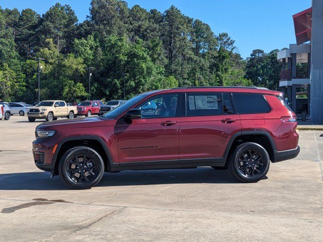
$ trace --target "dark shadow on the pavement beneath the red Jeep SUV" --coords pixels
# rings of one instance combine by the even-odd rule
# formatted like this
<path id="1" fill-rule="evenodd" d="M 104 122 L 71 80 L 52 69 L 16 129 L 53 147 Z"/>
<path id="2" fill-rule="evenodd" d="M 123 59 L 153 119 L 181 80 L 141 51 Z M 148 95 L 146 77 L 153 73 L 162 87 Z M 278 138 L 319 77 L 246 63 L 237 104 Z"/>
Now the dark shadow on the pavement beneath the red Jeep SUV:
<path id="1" fill-rule="evenodd" d="M 236 181 L 228 170 L 211 167 L 197 169 L 129 170 L 105 172 L 97 187 L 140 186 L 158 184 L 233 184 Z M 70 190 L 59 176 L 49 172 L 0 174 L 0 190 Z"/>

